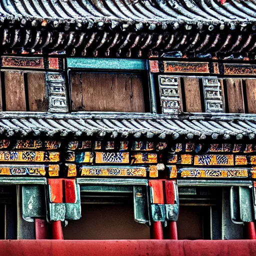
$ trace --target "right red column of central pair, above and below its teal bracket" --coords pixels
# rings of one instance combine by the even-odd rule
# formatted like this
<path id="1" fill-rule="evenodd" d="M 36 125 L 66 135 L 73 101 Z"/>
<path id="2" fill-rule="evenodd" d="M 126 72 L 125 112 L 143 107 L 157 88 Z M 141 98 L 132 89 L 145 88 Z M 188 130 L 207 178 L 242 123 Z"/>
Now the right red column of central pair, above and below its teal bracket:
<path id="1" fill-rule="evenodd" d="M 174 180 L 165 180 L 165 203 L 166 204 L 175 204 L 176 203 L 176 183 Z M 168 220 L 168 238 L 177 240 L 177 224 L 176 221 Z"/>

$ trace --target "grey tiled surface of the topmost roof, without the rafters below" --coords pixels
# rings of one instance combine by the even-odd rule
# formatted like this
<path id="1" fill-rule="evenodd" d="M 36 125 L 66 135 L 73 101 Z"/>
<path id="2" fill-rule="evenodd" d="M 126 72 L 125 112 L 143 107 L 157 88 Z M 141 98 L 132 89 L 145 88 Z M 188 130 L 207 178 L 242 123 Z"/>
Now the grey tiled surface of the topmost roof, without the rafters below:
<path id="1" fill-rule="evenodd" d="M 221 1 L 222 2 L 222 1 Z M 153 29 L 152 24 L 166 28 L 166 23 L 196 23 L 216 25 L 224 22 L 256 21 L 256 5 L 249 0 L 231 0 L 221 4 L 218 0 L 2 0 L 2 17 L 17 20 L 47 20 L 53 22 L 118 21 L 122 24 L 139 22 Z M 24 22 L 24 21 L 23 21 Z M 56 24 L 56 22 L 55 22 Z M 42 25 L 46 25 L 44 22 Z M 87 24 L 88 25 L 88 24 Z M 87 26 L 86 25 L 86 26 Z"/>

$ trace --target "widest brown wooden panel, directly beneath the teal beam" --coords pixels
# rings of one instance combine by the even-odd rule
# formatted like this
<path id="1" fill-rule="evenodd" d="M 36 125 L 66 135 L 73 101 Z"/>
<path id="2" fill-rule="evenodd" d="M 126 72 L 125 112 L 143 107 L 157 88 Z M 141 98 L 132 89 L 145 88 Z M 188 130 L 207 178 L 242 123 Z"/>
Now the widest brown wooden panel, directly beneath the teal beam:
<path id="1" fill-rule="evenodd" d="M 70 73 L 72 110 L 144 112 L 141 74 Z"/>

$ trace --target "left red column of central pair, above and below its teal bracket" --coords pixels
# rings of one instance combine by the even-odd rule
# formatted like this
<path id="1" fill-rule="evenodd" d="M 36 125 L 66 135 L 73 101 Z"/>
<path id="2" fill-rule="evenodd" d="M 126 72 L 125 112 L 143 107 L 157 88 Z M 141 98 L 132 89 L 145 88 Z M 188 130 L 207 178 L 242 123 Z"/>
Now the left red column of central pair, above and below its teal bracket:
<path id="1" fill-rule="evenodd" d="M 149 180 L 151 203 L 164 204 L 162 180 Z M 161 221 L 152 221 L 152 239 L 163 239 Z"/>

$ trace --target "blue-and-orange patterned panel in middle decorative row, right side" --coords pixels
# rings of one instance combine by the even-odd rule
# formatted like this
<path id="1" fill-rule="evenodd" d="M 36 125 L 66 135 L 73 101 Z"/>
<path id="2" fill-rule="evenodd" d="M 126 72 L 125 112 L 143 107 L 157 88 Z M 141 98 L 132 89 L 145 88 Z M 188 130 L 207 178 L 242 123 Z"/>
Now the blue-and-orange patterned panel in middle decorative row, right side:
<path id="1" fill-rule="evenodd" d="M 194 156 L 194 165 L 233 165 L 232 154 L 202 154 Z"/>

